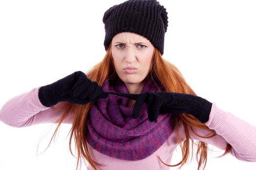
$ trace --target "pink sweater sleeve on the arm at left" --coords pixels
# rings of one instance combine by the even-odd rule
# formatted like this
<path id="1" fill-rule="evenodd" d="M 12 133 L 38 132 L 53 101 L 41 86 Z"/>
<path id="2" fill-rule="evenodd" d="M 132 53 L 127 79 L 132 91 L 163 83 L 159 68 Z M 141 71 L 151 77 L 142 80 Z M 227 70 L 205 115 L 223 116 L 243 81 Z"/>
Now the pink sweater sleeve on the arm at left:
<path id="1" fill-rule="evenodd" d="M 38 97 L 40 87 L 33 88 L 27 93 L 20 94 L 7 101 L 0 109 L 0 121 L 13 127 L 26 127 L 39 123 L 54 123 L 62 114 L 64 109 L 55 109 L 62 102 L 52 107 L 45 107 Z M 68 114 L 63 123 L 72 123 L 73 113 Z"/>

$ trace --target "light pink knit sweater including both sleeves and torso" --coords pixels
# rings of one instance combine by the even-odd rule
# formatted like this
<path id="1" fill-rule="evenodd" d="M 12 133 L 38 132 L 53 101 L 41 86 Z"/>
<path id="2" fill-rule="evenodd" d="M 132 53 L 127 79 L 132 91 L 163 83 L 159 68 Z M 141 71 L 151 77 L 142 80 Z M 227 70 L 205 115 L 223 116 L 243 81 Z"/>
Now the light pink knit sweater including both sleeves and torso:
<path id="1" fill-rule="evenodd" d="M 53 123 L 61 116 L 61 110 L 43 106 L 38 98 L 39 87 L 27 93 L 20 94 L 0 109 L 0 120 L 13 127 L 25 127 L 39 123 Z M 55 106 L 61 104 L 59 102 Z M 73 114 L 70 114 L 64 123 L 72 124 Z M 256 127 L 239 119 L 229 112 L 217 108 L 213 103 L 209 121 L 205 123 L 210 129 L 214 129 L 217 136 L 201 138 L 190 131 L 193 139 L 212 144 L 220 149 L 225 149 L 227 142 L 232 146 L 230 154 L 239 160 L 256 161 Z M 185 139 L 183 125 L 179 123 L 181 140 Z M 208 131 L 194 128 L 201 135 L 208 135 Z M 89 144 L 89 152 L 92 158 L 106 166 L 98 167 L 98 170 L 169 170 L 158 160 L 158 155 L 167 164 L 170 164 L 176 147 L 177 136 L 174 132 L 168 140 L 152 155 L 138 161 L 127 161 L 113 158 L 94 150 Z M 93 170 L 89 167 L 89 170 Z"/>

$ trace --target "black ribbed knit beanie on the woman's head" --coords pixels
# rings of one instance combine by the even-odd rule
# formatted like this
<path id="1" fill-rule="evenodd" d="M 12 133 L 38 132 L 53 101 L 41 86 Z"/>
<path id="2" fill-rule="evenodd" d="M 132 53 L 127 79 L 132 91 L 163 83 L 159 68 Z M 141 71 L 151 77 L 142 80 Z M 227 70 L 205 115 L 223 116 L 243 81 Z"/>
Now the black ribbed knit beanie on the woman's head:
<path id="1" fill-rule="evenodd" d="M 106 51 L 116 34 L 131 32 L 146 37 L 163 55 L 168 17 L 166 9 L 157 0 L 127 0 L 109 8 L 102 21 Z"/>

